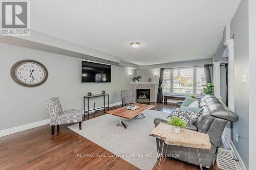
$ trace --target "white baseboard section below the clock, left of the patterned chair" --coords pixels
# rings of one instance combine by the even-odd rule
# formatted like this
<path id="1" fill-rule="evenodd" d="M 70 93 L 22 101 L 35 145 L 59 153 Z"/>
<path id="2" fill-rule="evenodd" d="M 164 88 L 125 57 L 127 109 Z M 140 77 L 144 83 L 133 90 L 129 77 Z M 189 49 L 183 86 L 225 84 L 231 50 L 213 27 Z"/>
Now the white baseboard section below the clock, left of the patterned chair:
<path id="1" fill-rule="evenodd" d="M 10 134 L 13 134 L 13 133 L 17 133 L 17 132 L 21 132 L 21 131 L 25 131 L 25 130 L 28 130 L 28 129 L 36 128 L 36 127 L 39 127 L 39 126 L 47 125 L 47 124 L 50 124 L 50 118 L 45 119 L 45 120 L 40 120 L 38 122 L 26 124 L 26 125 L 21 125 L 21 126 L 9 128 L 9 129 L 1 130 L 0 131 L 0 137 L 10 135 Z"/>

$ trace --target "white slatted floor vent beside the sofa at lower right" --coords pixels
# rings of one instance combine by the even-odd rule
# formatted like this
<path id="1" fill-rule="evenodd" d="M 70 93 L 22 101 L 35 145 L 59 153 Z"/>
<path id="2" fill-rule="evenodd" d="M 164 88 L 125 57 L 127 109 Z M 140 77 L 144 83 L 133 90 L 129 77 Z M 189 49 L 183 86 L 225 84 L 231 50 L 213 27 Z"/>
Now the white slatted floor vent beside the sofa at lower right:
<path id="1" fill-rule="evenodd" d="M 217 154 L 217 165 L 223 170 L 240 170 L 237 162 L 233 160 L 233 154 L 231 150 L 219 148 Z"/>

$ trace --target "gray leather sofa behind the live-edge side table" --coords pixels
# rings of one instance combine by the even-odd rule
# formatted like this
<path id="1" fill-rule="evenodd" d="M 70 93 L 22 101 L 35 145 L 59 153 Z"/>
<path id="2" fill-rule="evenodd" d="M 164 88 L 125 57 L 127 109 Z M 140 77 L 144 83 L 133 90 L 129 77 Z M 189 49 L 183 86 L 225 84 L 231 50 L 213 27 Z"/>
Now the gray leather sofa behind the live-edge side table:
<path id="1" fill-rule="evenodd" d="M 177 103 L 177 107 L 182 105 L 182 101 Z M 238 115 L 232 112 L 226 105 L 220 102 L 214 95 L 205 95 L 199 100 L 199 107 L 203 108 L 202 114 L 198 117 L 194 125 L 187 126 L 187 129 L 206 133 L 211 142 L 210 150 L 200 150 L 202 165 L 210 168 L 214 165 L 218 148 L 221 143 L 221 136 L 228 121 L 237 122 Z M 169 115 L 168 117 L 170 117 Z M 167 118 L 168 118 L 167 117 Z M 154 124 L 157 126 L 160 122 L 167 123 L 167 118 L 155 118 Z M 157 151 L 159 139 L 157 140 Z M 164 151 L 166 145 L 164 146 Z M 162 148 L 162 142 L 160 143 Z M 197 149 L 182 146 L 169 145 L 167 155 L 175 155 L 175 159 L 199 165 Z M 177 156 L 179 155 L 179 156 Z"/>

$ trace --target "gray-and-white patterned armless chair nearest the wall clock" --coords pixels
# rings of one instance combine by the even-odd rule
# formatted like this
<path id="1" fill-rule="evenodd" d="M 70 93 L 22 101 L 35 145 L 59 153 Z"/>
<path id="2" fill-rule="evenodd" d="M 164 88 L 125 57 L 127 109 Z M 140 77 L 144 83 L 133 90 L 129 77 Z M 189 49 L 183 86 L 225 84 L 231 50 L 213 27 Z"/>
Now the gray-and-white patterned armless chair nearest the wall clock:
<path id="1" fill-rule="evenodd" d="M 52 127 L 52 135 L 54 135 L 54 128 L 57 125 L 79 123 L 79 129 L 82 129 L 82 111 L 81 109 L 71 109 L 62 111 L 59 98 L 51 98 L 46 101 L 47 109 L 50 115 L 50 125 Z"/>

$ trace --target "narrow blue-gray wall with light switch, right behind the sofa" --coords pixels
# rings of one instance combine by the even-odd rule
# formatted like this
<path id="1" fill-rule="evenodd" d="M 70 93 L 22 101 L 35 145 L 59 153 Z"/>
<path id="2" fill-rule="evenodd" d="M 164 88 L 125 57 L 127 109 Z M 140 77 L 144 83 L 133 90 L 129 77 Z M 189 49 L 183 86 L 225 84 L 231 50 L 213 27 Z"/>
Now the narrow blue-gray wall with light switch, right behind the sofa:
<path id="1" fill-rule="evenodd" d="M 234 35 L 234 106 L 239 121 L 232 124 L 231 140 L 248 168 L 249 85 L 241 82 L 242 74 L 248 74 L 248 0 L 241 1 L 230 23 Z M 255 30 L 254 30 L 255 31 Z M 254 56 L 255 57 L 255 56 Z M 236 141 L 236 133 L 239 142 Z"/>

